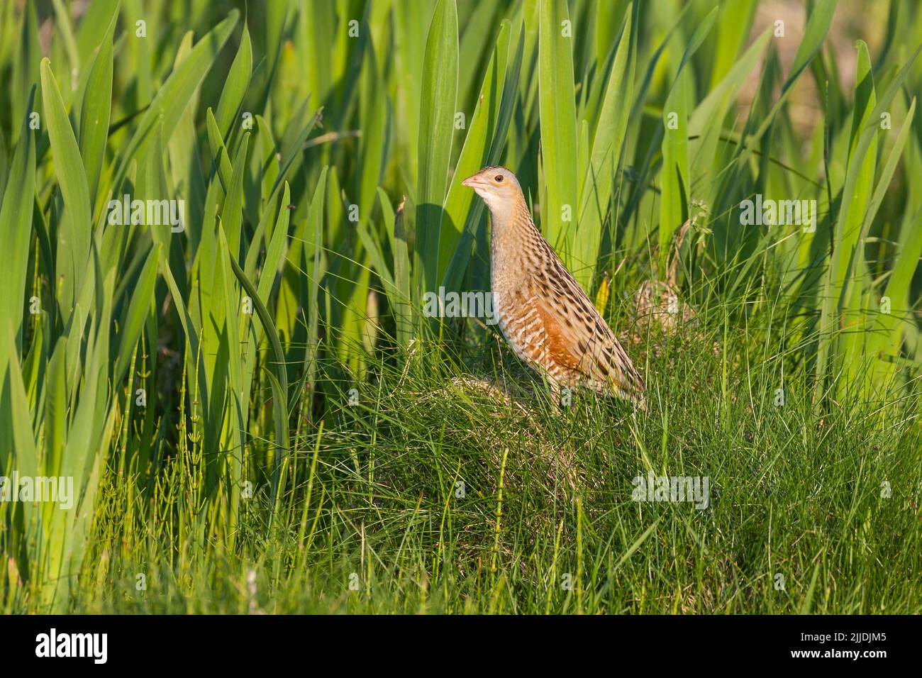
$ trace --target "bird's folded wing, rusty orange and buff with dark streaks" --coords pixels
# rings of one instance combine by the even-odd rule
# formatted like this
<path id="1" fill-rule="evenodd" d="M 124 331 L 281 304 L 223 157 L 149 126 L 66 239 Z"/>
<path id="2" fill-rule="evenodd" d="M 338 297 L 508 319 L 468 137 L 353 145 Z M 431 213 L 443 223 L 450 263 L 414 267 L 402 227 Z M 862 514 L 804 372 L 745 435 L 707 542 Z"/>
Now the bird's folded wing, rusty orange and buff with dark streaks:
<path id="1" fill-rule="evenodd" d="M 641 398 L 644 380 L 583 288 L 560 261 L 554 261 L 531 282 L 529 305 L 543 319 L 548 357 L 582 375 L 589 387 L 613 390 L 634 400 Z"/>

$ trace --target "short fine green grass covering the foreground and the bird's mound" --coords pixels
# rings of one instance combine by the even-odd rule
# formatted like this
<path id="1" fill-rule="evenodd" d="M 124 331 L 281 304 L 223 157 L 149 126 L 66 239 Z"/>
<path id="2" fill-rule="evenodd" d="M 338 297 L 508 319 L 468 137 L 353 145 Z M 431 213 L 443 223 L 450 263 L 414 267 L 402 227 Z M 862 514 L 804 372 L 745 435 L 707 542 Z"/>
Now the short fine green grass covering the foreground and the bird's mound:
<path id="1" fill-rule="evenodd" d="M 917 613 L 910 404 L 818 415 L 795 370 L 777 407 L 781 361 L 746 336 L 726 338 L 726 358 L 719 328 L 656 338 L 647 369 L 674 378 L 636 418 L 596 398 L 555 416 L 526 392 L 502 395 L 495 375 L 529 384 L 502 349 L 463 368 L 383 368 L 358 406 L 303 436 L 277 507 L 255 474 L 234 549 L 186 505 L 195 458 L 164 463 L 149 507 L 113 477 L 76 609 Z M 651 467 L 708 476 L 710 506 L 632 502 L 632 478 Z"/>

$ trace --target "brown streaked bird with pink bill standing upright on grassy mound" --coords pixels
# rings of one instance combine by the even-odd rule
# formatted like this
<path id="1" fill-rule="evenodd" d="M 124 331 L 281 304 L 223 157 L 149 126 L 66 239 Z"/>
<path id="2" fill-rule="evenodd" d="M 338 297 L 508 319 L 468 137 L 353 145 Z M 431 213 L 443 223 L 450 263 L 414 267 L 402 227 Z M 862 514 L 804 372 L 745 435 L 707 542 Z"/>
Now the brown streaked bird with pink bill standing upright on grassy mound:
<path id="1" fill-rule="evenodd" d="M 515 355 L 547 380 L 555 409 L 563 387 L 587 387 L 645 409 L 644 379 L 538 231 L 514 173 L 491 165 L 461 184 L 490 210 L 496 324 Z"/>

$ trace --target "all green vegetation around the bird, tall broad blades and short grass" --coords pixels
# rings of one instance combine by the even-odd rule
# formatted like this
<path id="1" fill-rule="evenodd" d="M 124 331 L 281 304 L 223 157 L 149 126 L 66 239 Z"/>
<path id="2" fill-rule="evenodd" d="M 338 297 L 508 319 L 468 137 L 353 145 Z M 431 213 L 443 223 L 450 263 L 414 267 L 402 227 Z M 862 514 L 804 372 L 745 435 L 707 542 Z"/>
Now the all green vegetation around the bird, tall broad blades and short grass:
<path id="1" fill-rule="evenodd" d="M 922 612 L 920 10 L 757 5 L 7 0 L 0 476 L 78 496 L 0 502 L 0 610 Z M 646 410 L 420 313 L 493 163 Z"/>

